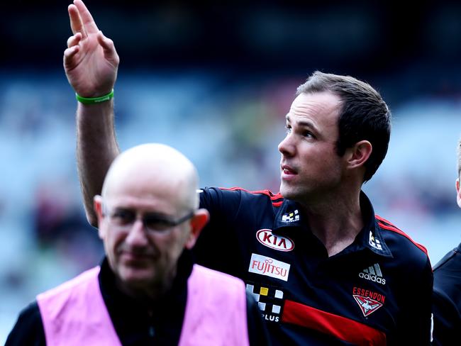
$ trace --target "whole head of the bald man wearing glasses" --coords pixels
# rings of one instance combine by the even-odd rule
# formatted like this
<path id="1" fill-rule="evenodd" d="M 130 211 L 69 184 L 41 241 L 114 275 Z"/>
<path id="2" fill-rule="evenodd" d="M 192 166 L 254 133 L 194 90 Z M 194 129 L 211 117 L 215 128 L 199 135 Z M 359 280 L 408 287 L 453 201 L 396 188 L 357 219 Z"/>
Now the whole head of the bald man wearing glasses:
<path id="1" fill-rule="evenodd" d="M 138 145 L 112 162 L 94 210 L 109 266 L 128 294 L 157 299 L 170 289 L 179 257 L 209 220 L 197 184 L 194 165 L 167 145 Z"/>

